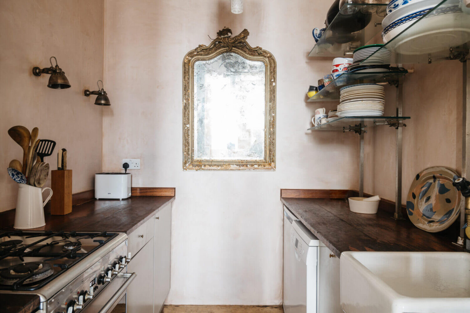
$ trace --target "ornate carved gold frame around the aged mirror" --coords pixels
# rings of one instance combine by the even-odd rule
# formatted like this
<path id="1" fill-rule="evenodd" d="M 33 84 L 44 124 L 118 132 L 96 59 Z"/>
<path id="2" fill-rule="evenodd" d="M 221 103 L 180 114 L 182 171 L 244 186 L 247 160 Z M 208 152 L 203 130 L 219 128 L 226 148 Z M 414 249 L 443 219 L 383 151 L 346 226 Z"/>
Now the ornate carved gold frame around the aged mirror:
<path id="1" fill-rule="evenodd" d="M 244 29 L 235 37 L 225 28 L 209 46 L 199 45 L 189 51 L 183 60 L 183 169 L 184 170 L 275 170 L 276 156 L 276 61 L 274 56 L 260 47 L 251 47 Z M 264 157 L 256 160 L 196 159 L 194 148 L 194 75 L 195 63 L 207 61 L 223 53 L 235 53 L 244 59 L 265 64 L 265 126 Z"/>

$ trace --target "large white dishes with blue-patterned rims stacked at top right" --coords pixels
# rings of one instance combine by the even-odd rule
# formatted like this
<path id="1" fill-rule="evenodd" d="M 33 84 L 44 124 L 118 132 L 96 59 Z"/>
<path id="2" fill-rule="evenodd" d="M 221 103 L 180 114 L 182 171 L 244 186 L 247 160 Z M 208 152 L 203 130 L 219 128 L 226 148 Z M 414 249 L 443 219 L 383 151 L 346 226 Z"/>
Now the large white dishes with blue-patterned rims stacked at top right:
<path id="1" fill-rule="evenodd" d="M 419 55 L 448 50 L 470 40 L 469 8 L 462 6 L 462 1 L 449 0 L 430 12 L 440 2 L 391 0 L 382 21 L 384 43 L 396 37 L 388 47 L 401 54 Z"/>

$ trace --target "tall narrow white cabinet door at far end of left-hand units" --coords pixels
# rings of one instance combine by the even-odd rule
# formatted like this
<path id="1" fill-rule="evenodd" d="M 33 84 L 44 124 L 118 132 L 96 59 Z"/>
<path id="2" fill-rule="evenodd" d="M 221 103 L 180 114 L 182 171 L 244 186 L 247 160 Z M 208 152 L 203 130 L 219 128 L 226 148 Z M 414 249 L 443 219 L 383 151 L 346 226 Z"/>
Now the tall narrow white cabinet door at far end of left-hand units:
<path id="1" fill-rule="evenodd" d="M 170 246 L 172 233 L 172 203 L 155 215 L 155 288 L 154 313 L 163 307 L 170 291 Z"/>

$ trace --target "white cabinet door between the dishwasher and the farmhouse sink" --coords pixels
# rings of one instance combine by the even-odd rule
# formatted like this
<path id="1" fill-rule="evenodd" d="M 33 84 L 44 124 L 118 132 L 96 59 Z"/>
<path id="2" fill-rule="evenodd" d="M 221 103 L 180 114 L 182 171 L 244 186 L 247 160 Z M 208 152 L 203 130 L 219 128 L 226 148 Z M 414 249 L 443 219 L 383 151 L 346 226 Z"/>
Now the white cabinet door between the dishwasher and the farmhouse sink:
<path id="1" fill-rule="evenodd" d="M 339 291 L 339 258 L 322 245 L 318 254 L 318 312 L 343 313 Z"/>

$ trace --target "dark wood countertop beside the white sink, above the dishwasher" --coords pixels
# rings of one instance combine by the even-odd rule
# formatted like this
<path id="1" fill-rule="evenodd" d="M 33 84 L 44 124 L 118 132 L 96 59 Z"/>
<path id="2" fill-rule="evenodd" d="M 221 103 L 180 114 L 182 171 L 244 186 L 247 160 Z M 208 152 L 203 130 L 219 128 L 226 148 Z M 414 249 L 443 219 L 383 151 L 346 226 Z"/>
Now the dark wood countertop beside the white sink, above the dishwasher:
<path id="1" fill-rule="evenodd" d="M 343 251 L 463 251 L 448 237 L 425 232 L 408 219 L 394 220 L 380 207 L 377 214 L 359 214 L 349 210 L 347 199 L 281 201 L 337 257 Z"/>

